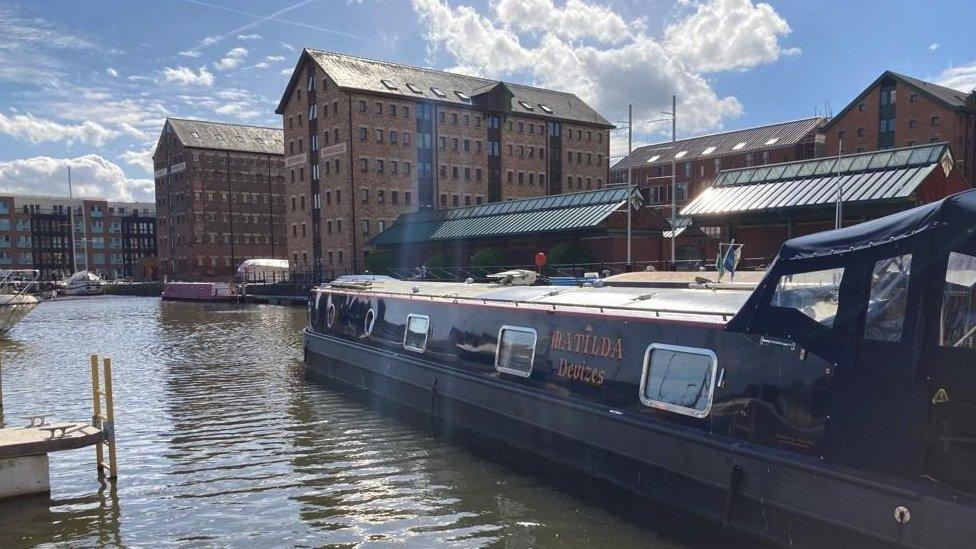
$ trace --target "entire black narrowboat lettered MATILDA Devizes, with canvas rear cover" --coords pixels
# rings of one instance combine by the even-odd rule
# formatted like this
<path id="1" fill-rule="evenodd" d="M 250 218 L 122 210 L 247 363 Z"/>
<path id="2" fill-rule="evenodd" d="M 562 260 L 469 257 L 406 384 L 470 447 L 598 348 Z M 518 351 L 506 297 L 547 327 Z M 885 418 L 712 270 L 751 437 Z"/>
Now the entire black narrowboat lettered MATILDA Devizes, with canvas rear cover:
<path id="1" fill-rule="evenodd" d="M 354 278 L 309 313 L 310 377 L 729 528 L 976 543 L 976 191 L 787 241 L 752 291 Z"/>

